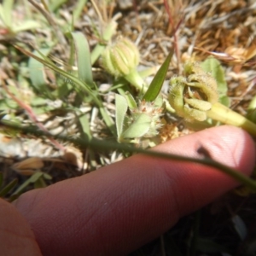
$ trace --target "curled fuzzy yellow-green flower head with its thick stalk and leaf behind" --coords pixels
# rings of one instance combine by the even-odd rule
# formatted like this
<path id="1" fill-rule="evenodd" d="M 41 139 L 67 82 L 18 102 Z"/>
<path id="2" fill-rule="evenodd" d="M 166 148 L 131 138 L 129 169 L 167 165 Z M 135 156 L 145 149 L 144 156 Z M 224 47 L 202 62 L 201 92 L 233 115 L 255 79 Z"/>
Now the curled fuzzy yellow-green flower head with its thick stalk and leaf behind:
<path id="1" fill-rule="evenodd" d="M 224 95 L 227 84 L 217 60 L 209 58 L 202 66 L 198 62 L 188 62 L 184 65 L 184 73 L 185 76 L 173 77 L 170 81 L 169 102 L 179 116 L 189 122 L 209 118 L 256 135 L 253 122 L 218 102 L 219 96 L 223 103 L 229 101 Z"/>

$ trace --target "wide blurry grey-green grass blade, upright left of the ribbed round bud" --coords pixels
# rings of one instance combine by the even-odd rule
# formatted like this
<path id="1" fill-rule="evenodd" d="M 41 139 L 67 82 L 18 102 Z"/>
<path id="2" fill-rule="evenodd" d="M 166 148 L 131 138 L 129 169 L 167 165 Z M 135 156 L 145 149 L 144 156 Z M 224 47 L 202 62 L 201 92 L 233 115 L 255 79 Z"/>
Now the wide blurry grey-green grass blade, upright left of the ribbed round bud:
<path id="1" fill-rule="evenodd" d="M 76 47 L 79 79 L 84 83 L 89 84 L 90 87 L 94 87 L 90 63 L 90 46 L 88 41 L 82 32 L 71 32 L 70 35 L 72 36 Z"/>

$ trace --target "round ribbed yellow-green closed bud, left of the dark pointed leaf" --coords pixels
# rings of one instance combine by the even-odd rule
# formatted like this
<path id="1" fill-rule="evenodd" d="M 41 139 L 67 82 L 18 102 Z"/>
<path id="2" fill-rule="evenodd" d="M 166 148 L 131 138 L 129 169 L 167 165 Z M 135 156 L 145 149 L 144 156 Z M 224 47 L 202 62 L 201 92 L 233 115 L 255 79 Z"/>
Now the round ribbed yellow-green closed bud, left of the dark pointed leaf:
<path id="1" fill-rule="evenodd" d="M 119 37 L 102 54 L 102 66 L 115 77 L 129 75 L 139 63 L 137 46 L 129 39 Z"/>

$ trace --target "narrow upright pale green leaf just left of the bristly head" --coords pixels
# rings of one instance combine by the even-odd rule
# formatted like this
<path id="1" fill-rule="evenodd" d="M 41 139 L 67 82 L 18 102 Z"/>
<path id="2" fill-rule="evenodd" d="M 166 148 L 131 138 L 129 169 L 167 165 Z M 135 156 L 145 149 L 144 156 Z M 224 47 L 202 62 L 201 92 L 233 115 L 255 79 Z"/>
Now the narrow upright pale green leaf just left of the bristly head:
<path id="1" fill-rule="evenodd" d="M 124 96 L 115 95 L 115 109 L 115 125 L 119 138 L 123 132 L 125 115 L 128 109 L 128 104 Z"/>

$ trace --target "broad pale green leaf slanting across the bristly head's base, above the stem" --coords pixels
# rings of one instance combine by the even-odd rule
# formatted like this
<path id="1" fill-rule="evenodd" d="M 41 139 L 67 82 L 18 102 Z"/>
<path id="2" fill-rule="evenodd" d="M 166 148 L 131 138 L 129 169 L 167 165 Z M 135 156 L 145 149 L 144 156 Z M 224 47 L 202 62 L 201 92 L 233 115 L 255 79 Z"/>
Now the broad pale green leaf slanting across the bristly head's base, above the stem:
<path id="1" fill-rule="evenodd" d="M 143 137 L 149 130 L 151 118 L 146 113 L 137 115 L 134 122 L 121 134 L 120 140 L 125 138 Z"/>

